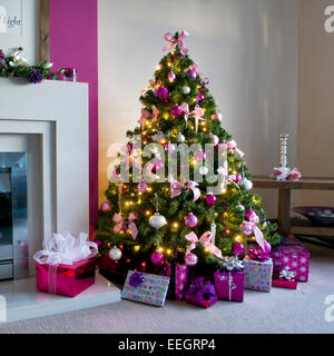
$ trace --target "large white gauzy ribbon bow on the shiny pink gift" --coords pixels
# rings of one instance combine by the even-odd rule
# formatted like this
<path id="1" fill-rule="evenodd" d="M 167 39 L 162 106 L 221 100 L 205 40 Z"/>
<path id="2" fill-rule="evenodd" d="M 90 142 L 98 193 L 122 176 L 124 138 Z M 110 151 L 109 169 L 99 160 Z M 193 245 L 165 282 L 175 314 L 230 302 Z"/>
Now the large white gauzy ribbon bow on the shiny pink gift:
<path id="1" fill-rule="evenodd" d="M 88 240 L 88 235 L 81 233 L 75 238 L 71 234 L 53 234 L 43 241 L 43 249 L 33 255 L 39 264 L 72 265 L 75 261 L 90 258 L 98 253 L 96 243 Z"/>

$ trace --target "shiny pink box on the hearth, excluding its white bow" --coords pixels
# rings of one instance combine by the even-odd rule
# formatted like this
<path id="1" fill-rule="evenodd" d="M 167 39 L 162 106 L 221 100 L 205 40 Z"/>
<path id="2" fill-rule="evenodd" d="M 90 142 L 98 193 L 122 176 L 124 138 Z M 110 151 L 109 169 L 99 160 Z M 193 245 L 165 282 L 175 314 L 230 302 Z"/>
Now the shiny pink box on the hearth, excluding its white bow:
<path id="1" fill-rule="evenodd" d="M 36 263 L 36 288 L 40 291 L 75 297 L 95 283 L 95 258 L 72 265 Z"/>

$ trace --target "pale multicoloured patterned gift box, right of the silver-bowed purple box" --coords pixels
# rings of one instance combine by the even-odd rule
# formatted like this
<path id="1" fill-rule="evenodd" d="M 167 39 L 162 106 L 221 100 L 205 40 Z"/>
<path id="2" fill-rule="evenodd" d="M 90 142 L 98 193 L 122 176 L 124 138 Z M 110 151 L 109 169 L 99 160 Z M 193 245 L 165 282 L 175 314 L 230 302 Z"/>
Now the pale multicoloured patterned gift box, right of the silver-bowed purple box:
<path id="1" fill-rule="evenodd" d="M 244 259 L 245 289 L 271 291 L 273 277 L 273 260 L 266 261 Z"/>

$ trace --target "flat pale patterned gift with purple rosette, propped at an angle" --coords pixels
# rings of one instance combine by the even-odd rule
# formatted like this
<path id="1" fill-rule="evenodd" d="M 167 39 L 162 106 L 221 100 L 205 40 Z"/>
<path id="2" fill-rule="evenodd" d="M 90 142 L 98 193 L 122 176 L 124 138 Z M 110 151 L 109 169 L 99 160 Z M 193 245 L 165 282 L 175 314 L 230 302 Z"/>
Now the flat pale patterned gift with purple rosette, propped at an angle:
<path id="1" fill-rule="evenodd" d="M 163 307 L 168 286 L 169 277 L 129 270 L 121 297 Z"/>

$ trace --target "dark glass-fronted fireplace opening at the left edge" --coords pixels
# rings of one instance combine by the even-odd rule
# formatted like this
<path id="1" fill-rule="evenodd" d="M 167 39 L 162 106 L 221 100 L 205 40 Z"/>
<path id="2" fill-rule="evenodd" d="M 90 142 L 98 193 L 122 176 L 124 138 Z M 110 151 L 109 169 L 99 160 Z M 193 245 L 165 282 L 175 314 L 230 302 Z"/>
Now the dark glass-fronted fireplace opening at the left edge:
<path id="1" fill-rule="evenodd" d="M 0 152 L 0 280 L 27 273 L 27 155 Z"/>

